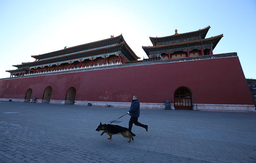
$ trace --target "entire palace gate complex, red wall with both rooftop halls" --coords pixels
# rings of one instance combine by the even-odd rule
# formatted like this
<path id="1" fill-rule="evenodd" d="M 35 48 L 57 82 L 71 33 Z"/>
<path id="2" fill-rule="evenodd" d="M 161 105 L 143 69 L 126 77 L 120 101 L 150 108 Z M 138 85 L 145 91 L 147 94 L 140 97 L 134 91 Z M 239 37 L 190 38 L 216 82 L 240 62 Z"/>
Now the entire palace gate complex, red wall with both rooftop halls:
<path id="1" fill-rule="evenodd" d="M 138 95 L 141 108 L 254 111 L 237 53 L 213 54 L 223 35 L 209 29 L 150 37 L 143 60 L 122 35 L 33 55 L 0 79 L 0 101 L 129 107 Z"/>

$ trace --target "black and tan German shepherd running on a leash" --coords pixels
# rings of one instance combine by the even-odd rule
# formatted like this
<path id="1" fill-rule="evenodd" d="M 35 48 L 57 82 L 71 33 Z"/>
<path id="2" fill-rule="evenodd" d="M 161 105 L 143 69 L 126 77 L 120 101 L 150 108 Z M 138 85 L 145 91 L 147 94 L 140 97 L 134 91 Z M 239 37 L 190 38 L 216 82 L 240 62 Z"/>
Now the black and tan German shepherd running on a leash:
<path id="1" fill-rule="evenodd" d="M 112 135 L 114 134 L 121 134 L 125 138 L 129 138 L 129 143 L 131 142 L 131 139 L 133 140 L 133 137 L 136 135 L 128 130 L 126 127 L 118 126 L 118 125 L 111 125 L 111 124 L 101 124 L 96 128 L 96 131 L 102 130 L 103 132 L 100 135 L 103 135 L 103 133 L 107 133 L 109 135 L 108 139 L 112 138 Z"/>

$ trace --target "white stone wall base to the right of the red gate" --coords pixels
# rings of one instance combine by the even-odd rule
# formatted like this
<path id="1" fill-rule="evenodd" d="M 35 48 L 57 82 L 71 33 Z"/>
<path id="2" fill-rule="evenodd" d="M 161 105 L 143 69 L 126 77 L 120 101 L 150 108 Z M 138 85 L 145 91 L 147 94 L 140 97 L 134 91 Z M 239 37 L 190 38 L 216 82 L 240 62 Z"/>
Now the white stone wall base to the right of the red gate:
<path id="1" fill-rule="evenodd" d="M 249 111 L 255 112 L 254 105 L 193 104 L 193 110 L 201 111 Z"/>

